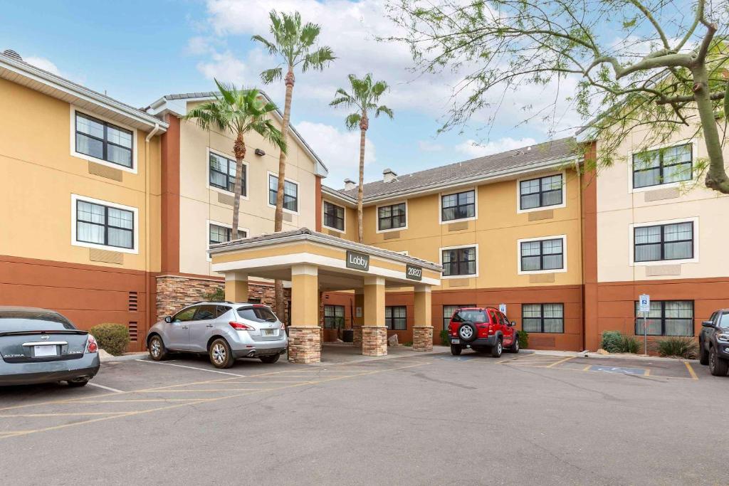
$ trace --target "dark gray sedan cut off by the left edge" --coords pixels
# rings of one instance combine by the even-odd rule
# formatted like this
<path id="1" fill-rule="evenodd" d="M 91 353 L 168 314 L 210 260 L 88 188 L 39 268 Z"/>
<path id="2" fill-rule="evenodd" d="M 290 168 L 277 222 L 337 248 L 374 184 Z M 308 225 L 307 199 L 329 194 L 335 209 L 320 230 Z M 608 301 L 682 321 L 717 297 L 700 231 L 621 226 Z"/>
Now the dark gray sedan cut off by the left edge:
<path id="1" fill-rule="evenodd" d="M 65 381 L 83 386 L 98 372 L 98 345 L 63 315 L 0 306 L 0 385 Z"/>

